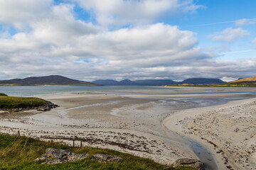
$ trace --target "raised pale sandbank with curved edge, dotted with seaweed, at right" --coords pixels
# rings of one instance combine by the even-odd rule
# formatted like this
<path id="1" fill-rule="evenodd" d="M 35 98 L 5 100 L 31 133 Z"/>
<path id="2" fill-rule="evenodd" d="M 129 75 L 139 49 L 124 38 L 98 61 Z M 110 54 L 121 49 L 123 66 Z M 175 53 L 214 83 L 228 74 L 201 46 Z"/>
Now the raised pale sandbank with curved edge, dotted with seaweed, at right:
<path id="1" fill-rule="evenodd" d="M 163 121 L 169 130 L 206 146 L 219 169 L 256 169 L 256 98 L 193 108 Z"/>

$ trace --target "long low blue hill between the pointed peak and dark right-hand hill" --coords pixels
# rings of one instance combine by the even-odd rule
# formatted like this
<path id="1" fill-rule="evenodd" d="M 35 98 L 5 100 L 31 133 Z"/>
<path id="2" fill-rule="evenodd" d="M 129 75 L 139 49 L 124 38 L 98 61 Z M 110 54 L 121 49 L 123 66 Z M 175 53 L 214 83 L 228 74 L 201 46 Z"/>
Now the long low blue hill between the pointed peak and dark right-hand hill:
<path id="1" fill-rule="evenodd" d="M 145 79 L 134 81 L 139 86 L 165 86 L 166 84 L 178 84 L 170 79 Z"/>

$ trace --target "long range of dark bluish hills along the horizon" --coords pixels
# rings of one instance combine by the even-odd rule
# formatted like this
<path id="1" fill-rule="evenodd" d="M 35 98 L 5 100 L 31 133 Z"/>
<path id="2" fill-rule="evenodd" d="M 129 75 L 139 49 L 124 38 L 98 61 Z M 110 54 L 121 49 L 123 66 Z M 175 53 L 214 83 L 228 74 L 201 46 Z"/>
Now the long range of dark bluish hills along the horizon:
<path id="1" fill-rule="evenodd" d="M 242 80 L 242 79 L 241 79 Z M 131 81 L 124 79 L 115 81 L 112 79 L 96 80 L 91 82 L 69 79 L 67 77 L 51 75 L 46 77 L 27 77 L 25 79 L 1 80 L 0 86 L 165 86 L 166 84 L 223 84 L 220 79 L 194 78 L 184 81 L 173 81 L 171 79 L 144 79 Z"/>

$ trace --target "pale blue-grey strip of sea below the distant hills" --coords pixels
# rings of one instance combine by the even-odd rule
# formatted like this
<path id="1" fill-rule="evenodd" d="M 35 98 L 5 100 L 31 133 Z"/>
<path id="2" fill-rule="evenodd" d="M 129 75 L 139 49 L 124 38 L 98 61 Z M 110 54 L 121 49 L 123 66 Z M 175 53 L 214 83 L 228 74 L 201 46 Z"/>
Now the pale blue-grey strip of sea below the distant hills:
<path id="1" fill-rule="evenodd" d="M 181 93 L 176 90 L 186 88 L 165 88 L 164 86 L 0 86 L 0 93 L 9 96 L 38 96 L 61 93 L 106 93 L 106 94 L 245 94 L 248 92 L 220 92 L 215 89 L 205 89 L 200 93 Z M 188 88 L 189 89 L 189 88 Z M 249 92 L 255 94 L 256 91 Z"/>

